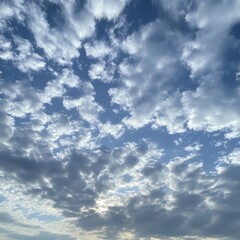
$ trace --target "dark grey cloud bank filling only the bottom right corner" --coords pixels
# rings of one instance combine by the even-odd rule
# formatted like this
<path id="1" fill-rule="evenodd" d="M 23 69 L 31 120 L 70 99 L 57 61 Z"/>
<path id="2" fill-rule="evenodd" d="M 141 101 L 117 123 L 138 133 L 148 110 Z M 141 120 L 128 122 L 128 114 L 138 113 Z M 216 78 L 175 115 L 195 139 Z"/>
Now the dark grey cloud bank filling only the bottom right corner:
<path id="1" fill-rule="evenodd" d="M 110 226 L 115 231 L 134 229 L 138 237 L 157 239 L 179 236 L 237 239 L 239 232 L 233 229 L 238 227 L 235 219 L 239 213 L 234 211 L 238 203 L 234 201 L 234 207 L 228 203 L 239 197 L 239 193 L 233 193 L 238 186 L 238 167 L 228 165 L 218 174 L 206 174 L 200 163 L 186 163 L 187 159 L 172 160 L 161 170 L 168 190 L 152 182 L 148 194 L 138 193 L 127 205 L 109 208 L 104 216 L 89 212 L 79 221 L 80 226 L 87 230 L 94 229 L 93 225 Z M 160 174 L 158 177 L 162 178 Z M 226 219 L 229 224 L 222 228 Z"/>

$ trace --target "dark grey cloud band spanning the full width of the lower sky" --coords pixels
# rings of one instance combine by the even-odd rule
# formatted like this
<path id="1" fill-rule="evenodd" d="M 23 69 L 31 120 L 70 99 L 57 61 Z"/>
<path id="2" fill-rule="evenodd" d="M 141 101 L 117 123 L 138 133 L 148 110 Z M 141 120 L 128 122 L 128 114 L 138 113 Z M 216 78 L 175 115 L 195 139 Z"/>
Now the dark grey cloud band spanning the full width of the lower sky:
<path id="1" fill-rule="evenodd" d="M 109 172 L 115 162 L 122 161 L 122 156 L 133 156 L 124 148 L 121 152 L 119 159 L 113 159 L 114 151 L 104 148 L 91 157 L 74 152 L 65 164 L 1 152 L 0 167 L 6 176 L 24 184 L 27 194 L 51 200 L 64 216 L 77 217 L 76 225 L 87 231 L 104 228 L 108 237 L 113 232 L 128 229 L 146 238 L 189 235 L 237 239 L 240 234 L 237 230 L 240 217 L 238 165 L 219 165 L 221 170 L 212 174 L 204 172 L 198 162 L 181 159 L 167 165 L 145 166 L 140 174 L 142 183 L 145 179 L 151 181 L 147 194 L 138 193 L 130 197 L 126 205 L 113 205 L 105 213 L 96 212 L 99 194 L 111 188 L 114 174 L 141 164 L 134 161 L 129 165 L 125 158 L 122 159 L 124 165 L 119 164 L 118 170 L 115 167 L 115 173 Z M 44 184 L 43 178 L 47 178 L 50 185 Z M 32 187 L 33 183 L 35 186 L 37 183 L 38 188 Z M 4 223 L 12 220 L 8 215 L 1 216 Z"/>

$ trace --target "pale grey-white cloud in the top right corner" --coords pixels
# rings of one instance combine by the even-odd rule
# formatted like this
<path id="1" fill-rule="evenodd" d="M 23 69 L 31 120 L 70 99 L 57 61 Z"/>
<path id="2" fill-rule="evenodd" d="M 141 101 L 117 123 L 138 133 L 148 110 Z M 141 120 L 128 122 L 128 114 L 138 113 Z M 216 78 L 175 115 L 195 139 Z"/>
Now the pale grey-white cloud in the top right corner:
<path id="1" fill-rule="evenodd" d="M 183 59 L 193 76 L 206 70 L 215 71 L 226 64 L 222 54 L 226 47 L 234 46 L 229 30 L 239 20 L 239 7 L 236 0 L 216 3 L 200 1 L 196 11 L 186 15 L 189 25 L 199 29 L 196 38 L 187 43 L 183 51 Z M 219 16 L 224 17 L 220 19 Z"/>

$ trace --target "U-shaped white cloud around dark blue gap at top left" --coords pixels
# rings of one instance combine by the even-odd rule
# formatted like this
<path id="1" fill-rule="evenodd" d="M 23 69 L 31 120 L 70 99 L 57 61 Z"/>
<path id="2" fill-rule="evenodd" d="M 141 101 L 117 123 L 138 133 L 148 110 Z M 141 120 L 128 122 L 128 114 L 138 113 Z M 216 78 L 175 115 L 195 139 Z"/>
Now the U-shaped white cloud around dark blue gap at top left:
<path id="1" fill-rule="evenodd" d="M 61 7 L 65 16 L 62 29 L 50 28 L 45 12 L 35 4 L 28 8 L 28 24 L 37 46 L 43 48 L 49 58 L 64 65 L 69 64 L 72 58 L 79 57 L 81 40 L 93 33 L 95 22 L 85 9 L 75 14 L 75 4 L 72 2 Z"/>

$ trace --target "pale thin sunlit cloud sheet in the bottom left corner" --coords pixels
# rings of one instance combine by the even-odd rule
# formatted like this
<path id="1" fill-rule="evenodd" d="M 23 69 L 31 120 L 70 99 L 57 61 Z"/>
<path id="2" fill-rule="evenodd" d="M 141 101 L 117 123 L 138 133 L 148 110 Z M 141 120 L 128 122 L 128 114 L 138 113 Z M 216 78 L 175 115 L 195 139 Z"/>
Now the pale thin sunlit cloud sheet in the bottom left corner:
<path id="1" fill-rule="evenodd" d="M 38 239 L 39 235 L 39 239 L 70 240 L 78 235 L 76 228 L 63 219 L 49 200 L 33 199 L 31 195 L 24 194 L 25 190 L 20 184 L 1 178 L 0 195 L 5 196 L 5 201 L 1 202 L 0 212 L 1 216 L 6 216 L 1 226 L 8 230 L 6 239 Z M 41 232 L 45 232 L 42 238 Z M 0 236 L 2 238 L 1 231 Z"/>

